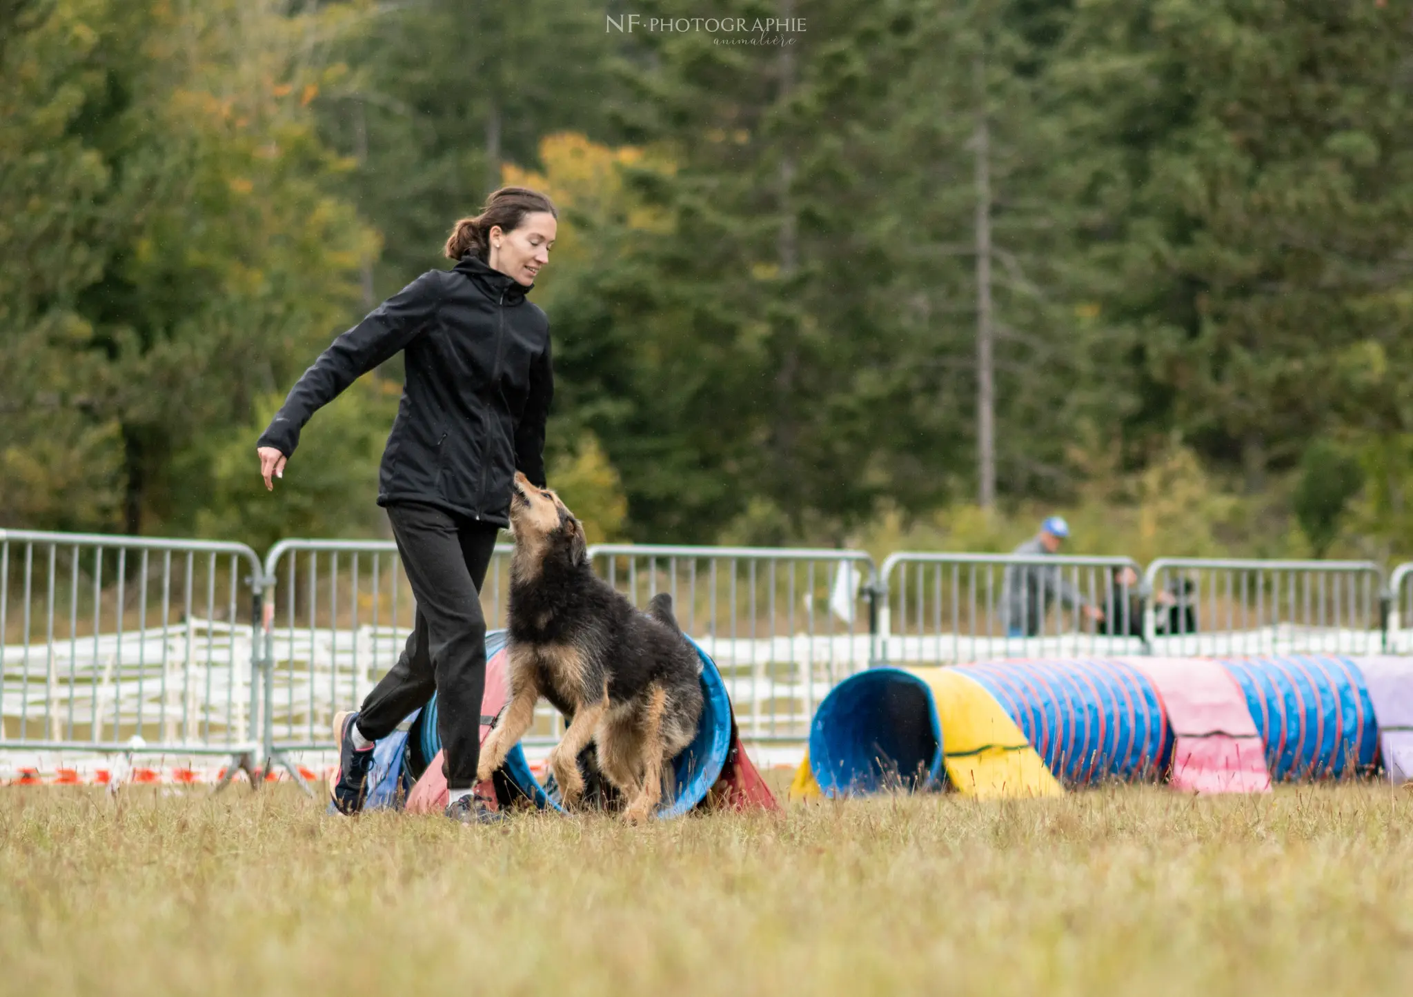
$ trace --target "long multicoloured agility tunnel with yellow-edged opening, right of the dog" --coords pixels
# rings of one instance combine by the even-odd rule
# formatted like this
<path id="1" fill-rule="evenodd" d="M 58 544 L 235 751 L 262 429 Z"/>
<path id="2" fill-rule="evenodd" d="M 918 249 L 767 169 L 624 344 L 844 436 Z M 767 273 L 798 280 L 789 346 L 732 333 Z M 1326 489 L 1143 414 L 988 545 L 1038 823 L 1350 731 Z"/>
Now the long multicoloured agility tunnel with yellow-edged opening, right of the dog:
<path id="1" fill-rule="evenodd" d="M 811 722 L 791 796 L 1026 796 L 1115 780 L 1265 792 L 1379 765 L 1413 777 L 1406 659 L 995 661 L 845 679 Z"/>

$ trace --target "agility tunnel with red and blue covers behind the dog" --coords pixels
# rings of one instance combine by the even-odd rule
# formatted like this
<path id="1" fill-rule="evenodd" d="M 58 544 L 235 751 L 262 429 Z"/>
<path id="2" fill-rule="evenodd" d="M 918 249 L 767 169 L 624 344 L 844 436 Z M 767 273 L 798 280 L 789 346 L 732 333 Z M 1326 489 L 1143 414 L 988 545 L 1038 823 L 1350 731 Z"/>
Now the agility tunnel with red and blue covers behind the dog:
<path id="1" fill-rule="evenodd" d="M 688 638 L 690 640 L 690 638 Z M 503 630 L 486 634 L 486 692 L 482 699 L 480 739 L 489 736 L 502 706 L 509 698 L 506 685 L 506 634 Z M 712 806 L 764 806 L 776 801 L 746 757 L 736 732 L 731 698 L 721 672 L 711 657 L 692 641 L 702 664 L 702 716 L 697 739 L 674 758 L 673 775 L 664 787 L 658 819 L 681 816 L 692 809 Z M 592 782 L 592 778 L 591 778 Z M 504 764 L 495 774 L 492 785 L 482 787 L 485 795 L 493 789 L 500 806 L 528 802 L 538 809 L 562 809 L 558 792 L 536 778 L 523 748 L 516 744 Z M 383 739 L 374 748 L 374 788 L 366 806 L 398 806 L 413 812 L 439 809 L 447 798 L 447 784 L 441 772 L 441 739 L 437 733 L 437 696 L 410 717 L 406 732 Z"/>

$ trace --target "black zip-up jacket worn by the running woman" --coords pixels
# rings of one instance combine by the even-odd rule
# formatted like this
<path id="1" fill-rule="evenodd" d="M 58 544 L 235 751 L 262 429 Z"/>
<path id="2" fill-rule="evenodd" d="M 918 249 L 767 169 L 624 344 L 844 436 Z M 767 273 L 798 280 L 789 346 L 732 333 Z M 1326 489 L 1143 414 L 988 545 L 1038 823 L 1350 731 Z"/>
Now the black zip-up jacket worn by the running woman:
<path id="1" fill-rule="evenodd" d="M 290 456 L 321 405 L 404 350 L 377 504 L 420 501 L 509 525 L 514 472 L 544 486 L 554 394 L 550 321 L 526 301 L 528 289 L 473 256 L 427 271 L 319 354 L 259 445 Z"/>

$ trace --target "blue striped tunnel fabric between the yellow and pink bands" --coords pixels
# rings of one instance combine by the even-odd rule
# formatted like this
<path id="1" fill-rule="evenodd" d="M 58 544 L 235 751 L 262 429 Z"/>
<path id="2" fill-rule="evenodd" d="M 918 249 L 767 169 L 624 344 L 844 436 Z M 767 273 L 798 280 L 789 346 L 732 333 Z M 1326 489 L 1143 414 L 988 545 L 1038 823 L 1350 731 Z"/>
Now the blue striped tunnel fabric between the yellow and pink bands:
<path id="1" fill-rule="evenodd" d="M 1068 785 L 1152 780 L 1173 754 L 1153 683 L 1119 661 L 996 661 L 964 665 Z"/>

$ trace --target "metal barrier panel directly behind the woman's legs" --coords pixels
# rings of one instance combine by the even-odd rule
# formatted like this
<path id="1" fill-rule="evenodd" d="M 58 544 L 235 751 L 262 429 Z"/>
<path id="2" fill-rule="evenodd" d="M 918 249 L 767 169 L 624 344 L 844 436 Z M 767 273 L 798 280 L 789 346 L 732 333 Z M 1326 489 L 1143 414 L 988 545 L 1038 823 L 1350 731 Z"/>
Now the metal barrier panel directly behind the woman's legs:
<path id="1" fill-rule="evenodd" d="M 490 628 L 504 626 L 509 544 L 497 544 L 482 585 Z M 264 746 L 287 753 L 333 747 L 333 715 L 356 709 L 413 633 L 417 602 L 393 541 L 283 539 L 264 563 Z"/>

